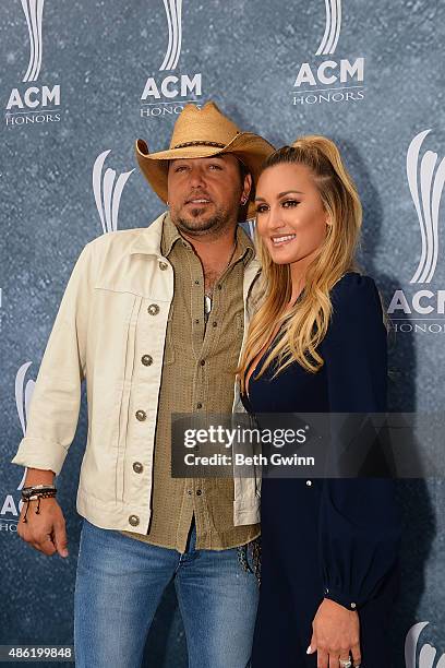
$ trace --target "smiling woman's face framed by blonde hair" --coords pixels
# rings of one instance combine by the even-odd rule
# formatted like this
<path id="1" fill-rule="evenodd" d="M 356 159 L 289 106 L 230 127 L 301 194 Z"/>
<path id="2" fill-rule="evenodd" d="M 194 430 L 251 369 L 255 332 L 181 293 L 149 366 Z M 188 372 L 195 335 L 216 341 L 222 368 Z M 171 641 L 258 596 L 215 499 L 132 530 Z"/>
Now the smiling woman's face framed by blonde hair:
<path id="1" fill-rule="evenodd" d="M 274 262 L 316 255 L 328 215 L 305 165 L 280 164 L 263 171 L 256 187 L 256 226 Z"/>

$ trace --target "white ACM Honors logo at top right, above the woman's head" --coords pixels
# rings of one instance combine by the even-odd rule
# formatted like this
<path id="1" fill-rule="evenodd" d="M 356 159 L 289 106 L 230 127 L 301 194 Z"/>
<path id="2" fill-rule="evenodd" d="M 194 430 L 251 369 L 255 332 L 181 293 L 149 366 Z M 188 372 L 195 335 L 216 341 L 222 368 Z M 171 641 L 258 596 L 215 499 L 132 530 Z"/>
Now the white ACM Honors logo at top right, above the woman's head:
<path id="1" fill-rule="evenodd" d="M 341 0 L 325 0 L 325 12 L 326 24 L 315 52 L 317 57 L 333 56 L 336 51 L 341 29 Z M 292 104 L 358 102 L 364 97 L 363 77 L 364 58 L 303 62 L 293 83 Z"/>

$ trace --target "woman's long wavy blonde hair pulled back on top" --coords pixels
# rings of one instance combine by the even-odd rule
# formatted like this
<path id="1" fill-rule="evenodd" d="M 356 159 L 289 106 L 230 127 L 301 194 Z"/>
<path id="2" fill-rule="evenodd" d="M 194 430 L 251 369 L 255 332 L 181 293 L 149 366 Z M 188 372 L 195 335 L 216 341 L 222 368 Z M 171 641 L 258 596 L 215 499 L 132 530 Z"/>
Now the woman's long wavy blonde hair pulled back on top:
<path id="1" fill-rule="evenodd" d="M 277 324 L 282 324 L 282 336 L 273 345 L 256 375 L 262 375 L 267 367 L 274 365 L 275 378 L 292 361 L 298 361 L 312 373 L 321 369 L 324 360 L 317 346 L 326 335 L 332 314 L 329 291 L 346 272 L 357 271 L 354 255 L 362 207 L 337 146 L 324 136 L 303 136 L 291 146 L 273 153 L 265 160 L 262 171 L 281 164 L 309 167 L 330 225 L 326 228 L 320 252 L 306 271 L 303 293 L 286 314 L 292 293 L 290 267 L 288 264 L 275 264 L 255 232 L 263 290 L 261 306 L 251 320 L 237 370 L 243 392 L 246 369 L 263 350 Z"/>

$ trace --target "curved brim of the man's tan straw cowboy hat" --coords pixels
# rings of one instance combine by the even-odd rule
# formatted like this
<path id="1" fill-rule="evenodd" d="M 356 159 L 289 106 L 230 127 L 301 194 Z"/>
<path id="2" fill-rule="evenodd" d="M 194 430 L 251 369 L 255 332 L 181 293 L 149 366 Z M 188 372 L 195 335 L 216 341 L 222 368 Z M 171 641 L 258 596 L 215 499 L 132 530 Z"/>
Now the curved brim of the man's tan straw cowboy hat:
<path id="1" fill-rule="evenodd" d="M 239 132 L 225 146 L 208 146 L 196 144 L 190 146 L 180 146 L 169 148 L 158 153 L 149 153 L 148 146 L 144 140 L 136 140 L 136 158 L 137 163 L 152 186 L 156 194 L 167 202 L 168 188 L 168 162 L 178 158 L 200 158 L 212 157 L 224 153 L 231 153 L 238 157 L 252 174 L 254 187 L 256 186 L 260 176 L 261 166 L 265 158 L 275 151 L 274 146 L 266 140 L 254 134 L 253 132 Z M 249 202 L 248 217 L 253 218 L 255 215 L 255 206 L 252 201 Z"/>

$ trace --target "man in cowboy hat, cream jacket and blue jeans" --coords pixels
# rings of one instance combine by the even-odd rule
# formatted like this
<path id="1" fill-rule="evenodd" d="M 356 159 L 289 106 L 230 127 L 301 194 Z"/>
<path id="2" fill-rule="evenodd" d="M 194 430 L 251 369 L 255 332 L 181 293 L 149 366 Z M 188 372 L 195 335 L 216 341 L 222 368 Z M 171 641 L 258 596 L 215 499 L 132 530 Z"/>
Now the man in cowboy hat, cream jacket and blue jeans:
<path id="1" fill-rule="evenodd" d="M 77 491 L 85 520 L 74 599 L 80 668 L 140 665 L 172 578 L 190 667 L 249 661 L 255 480 L 172 478 L 170 421 L 172 413 L 229 413 L 237 404 L 244 303 L 258 271 L 237 220 L 248 206 L 252 213 L 252 179 L 272 151 L 215 104 L 188 105 L 169 150 L 149 154 L 136 143 L 140 166 L 169 211 L 148 228 L 87 243 L 68 284 L 12 462 L 28 467 L 32 488 L 23 490 L 31 500 L 19 535 L 46 554 L 67 556 L 63 514 L 48 493 L 74 438 L 85 378 L 88 439 Z"/>

